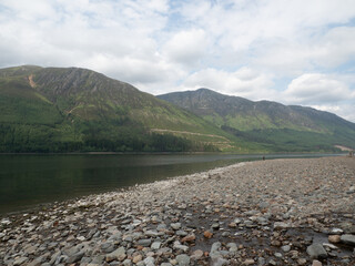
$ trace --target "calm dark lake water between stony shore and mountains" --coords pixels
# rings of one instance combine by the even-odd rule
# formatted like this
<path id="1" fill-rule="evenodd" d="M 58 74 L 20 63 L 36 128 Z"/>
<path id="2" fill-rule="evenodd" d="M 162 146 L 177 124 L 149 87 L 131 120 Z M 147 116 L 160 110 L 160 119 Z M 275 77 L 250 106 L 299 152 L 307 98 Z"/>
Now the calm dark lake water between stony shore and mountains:
<path id="1" fill-rule="evenodd" d="M 267 158 L 285 156 L 291 155 L 267 155 Z M 0 214 L 261 157 L 262 155 L 0 155 Z"/>

